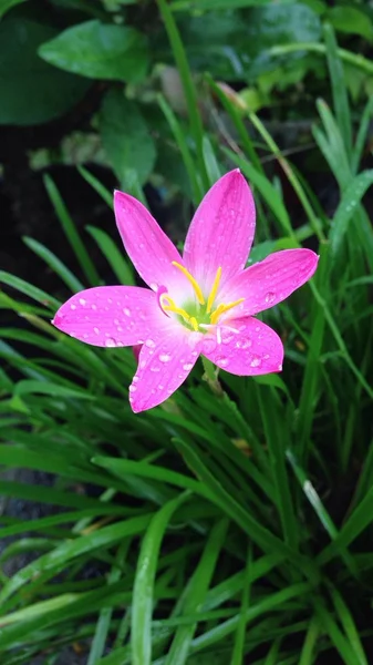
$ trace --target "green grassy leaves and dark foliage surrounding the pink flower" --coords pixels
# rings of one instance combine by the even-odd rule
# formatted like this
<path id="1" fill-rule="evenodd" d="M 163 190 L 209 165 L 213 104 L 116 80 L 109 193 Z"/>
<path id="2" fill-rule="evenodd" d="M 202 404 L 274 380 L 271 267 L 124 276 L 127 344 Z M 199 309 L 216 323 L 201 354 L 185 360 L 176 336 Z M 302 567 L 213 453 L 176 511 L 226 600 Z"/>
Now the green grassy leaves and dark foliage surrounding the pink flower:
<path id="1" fill-rule="evenodd" d="M 373 662 L 372 38 L 367 0 L 0 0 L 4 665 Z M 134 416 L 132 350 L 50 319 L 137 280 L 115 186 L 182 244 L 235 166 L 250 262 L 321 255 L 284 370 Z"/>

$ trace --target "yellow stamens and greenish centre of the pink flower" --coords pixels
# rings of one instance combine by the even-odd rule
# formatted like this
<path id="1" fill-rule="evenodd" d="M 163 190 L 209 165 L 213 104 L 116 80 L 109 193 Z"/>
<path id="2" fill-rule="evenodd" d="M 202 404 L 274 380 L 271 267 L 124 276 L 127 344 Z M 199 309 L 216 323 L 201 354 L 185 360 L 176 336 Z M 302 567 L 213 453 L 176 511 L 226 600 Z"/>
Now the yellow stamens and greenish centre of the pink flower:
<path id="1" fill-rule="evenodd" d="M 176 314 L 179 317 L 180 323 L 191 330 L 207 332 L 209 328 L 218 325 L 222 314 L 229 311 L 245 300 L 245 298 L 239 298 L 234 303 L 220 303 L 214 308 L 220 284 L 221 268 L 219 267 L 217 269 L 211 290 L 208 297 L 205 298 L 203 289 L 195 277 L 193 277 L 193 275 L 176 260 L 173 260 L 173 266 L 178 268 L 191 284 L 196 300 L 186 303 L 184 307 L 178 307 L 168 293 L 163 291 L 159 295 L 159 305 L 166 314 L 168 311 Z"/>

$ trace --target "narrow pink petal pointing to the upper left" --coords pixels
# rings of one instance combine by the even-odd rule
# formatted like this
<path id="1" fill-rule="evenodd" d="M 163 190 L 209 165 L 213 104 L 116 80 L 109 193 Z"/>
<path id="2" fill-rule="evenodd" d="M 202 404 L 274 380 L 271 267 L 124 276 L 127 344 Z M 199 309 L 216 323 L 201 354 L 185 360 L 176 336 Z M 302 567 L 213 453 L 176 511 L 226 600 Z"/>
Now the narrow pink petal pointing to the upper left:
<path id="1" fill-rule="evenodd" d="M 162 285 L 169 291 L 188 289 L 187 279 L 172 265 L 183 265 L 183 258 L 146 207 L 129 194 L 114 192 L 114 211 L 124 247 L 144 282 L 154 290 Z"/>

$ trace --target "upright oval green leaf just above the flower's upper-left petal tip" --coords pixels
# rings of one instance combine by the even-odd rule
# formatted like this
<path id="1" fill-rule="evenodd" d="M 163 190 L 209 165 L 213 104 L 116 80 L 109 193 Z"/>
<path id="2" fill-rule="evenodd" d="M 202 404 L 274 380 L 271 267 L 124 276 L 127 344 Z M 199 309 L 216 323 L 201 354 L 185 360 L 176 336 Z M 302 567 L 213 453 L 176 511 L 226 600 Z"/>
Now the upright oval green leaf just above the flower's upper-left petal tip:
<path id="1" fill-rule="evenodd" d="M 141 185 L 153 171 L 156 150 L 149 129 L 136 102 L 121 90 L 111 90 L 100 112 L 102 141 L 115 174 L 124 188 L 137 176 Z"/>

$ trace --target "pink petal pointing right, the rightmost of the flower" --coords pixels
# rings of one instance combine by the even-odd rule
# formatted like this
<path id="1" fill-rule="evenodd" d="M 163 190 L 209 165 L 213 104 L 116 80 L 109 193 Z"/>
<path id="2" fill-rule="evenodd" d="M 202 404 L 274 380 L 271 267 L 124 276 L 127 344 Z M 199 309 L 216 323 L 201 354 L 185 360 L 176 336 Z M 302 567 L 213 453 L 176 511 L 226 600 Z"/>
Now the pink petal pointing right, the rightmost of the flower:
<path id="1" fill-rule="evenodd" d="M 219 298 L 222 303 L 245 298 L 234 309 L 239 316 L 258 314 L 288 298 L 308 282 L 318 267 L 319 257 L 311 249 L 274 252 L 250 266 L 226 284 Z"/>

